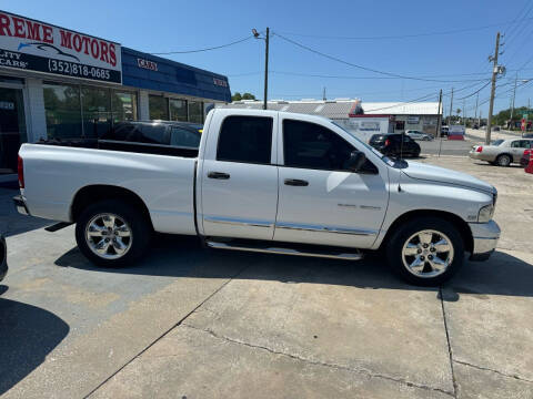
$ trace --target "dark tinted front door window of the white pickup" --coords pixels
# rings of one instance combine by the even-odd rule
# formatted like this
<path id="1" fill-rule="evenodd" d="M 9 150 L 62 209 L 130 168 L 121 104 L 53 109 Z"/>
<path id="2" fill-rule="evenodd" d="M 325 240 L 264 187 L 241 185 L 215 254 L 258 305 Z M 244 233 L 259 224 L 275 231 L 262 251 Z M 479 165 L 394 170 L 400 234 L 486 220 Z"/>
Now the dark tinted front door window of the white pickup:
<path id="1" fill-rule="evenodd" d="M 345 165 L 355 149 L 336 133 L 314 123 L 283 121 L 285 166 L 348 171 Z"/>

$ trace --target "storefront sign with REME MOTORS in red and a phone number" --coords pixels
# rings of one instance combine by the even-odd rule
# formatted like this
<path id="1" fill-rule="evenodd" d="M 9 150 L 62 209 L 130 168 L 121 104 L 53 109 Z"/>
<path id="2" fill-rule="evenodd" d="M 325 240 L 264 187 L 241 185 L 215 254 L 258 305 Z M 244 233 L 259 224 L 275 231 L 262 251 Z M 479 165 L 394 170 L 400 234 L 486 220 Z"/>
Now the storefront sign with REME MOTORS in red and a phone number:
<path id="1" fill-rule="evenodd" d="M 120 44 L 0 11 L 0 66 L 122 83 Z"/>

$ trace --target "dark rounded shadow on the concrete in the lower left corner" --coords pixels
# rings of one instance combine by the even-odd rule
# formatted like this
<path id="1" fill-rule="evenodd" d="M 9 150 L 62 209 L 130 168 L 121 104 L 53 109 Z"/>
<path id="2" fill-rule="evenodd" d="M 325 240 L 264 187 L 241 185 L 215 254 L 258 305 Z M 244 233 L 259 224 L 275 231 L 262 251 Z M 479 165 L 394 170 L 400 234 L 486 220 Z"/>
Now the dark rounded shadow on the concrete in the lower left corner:
<path id="1" fill-rule="evenodd" d="M 0 396 L 42 364 L 69 329 L 48 310 L 0 298 Z"/>

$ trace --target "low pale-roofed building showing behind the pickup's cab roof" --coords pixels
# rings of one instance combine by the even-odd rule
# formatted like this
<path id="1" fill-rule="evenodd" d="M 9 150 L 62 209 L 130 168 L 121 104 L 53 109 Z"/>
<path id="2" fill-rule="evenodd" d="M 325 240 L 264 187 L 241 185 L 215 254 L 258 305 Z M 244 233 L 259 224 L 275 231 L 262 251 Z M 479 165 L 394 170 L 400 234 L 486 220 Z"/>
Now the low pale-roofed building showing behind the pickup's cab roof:
<path id="1" fill-rule="evenodd" d="M 261 109 L 257 100 L 243 100 L 217 106 Z M 329 117 L 360 139 L 368 140 L 375 133 L 403 133 L 419 130 L 436 135 L 438 102 L 361 102 L 360 100 L 272 100 L 269 110 L 286 111 Z M 362 111 L 361 111 L 362 110 Z M 442 110 L 441 110 L 442 115 Z"/>

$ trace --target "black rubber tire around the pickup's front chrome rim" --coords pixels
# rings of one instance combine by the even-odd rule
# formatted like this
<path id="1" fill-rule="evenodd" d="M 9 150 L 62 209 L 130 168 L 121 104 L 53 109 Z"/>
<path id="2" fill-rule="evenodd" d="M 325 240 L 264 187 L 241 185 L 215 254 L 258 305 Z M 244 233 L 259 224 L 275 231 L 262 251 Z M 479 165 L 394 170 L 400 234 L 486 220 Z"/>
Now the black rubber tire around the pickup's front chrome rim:
<path id="1" fill-rule="evenodd" d="M 452 262 L 449 264 L 446 268 L 441 274 L 435 276 L 431 276 L 431 273 L 438 273 L 432 269 L 430 265 L 430 260 L 426 259 L 423 262 L 423 270 L 422 275 L 415 275 L 414 273 L 410 272 L 406 265 L 404 265 L 404 257 L 403 257 L 403 247 L 408 244 L 410 238 L 415 235 L 418 232 L 422 231 L 434 231 L 436 233 L 441 233 L 450 241 L 450 245 L 453 249 L 453 258 Z M 434 234 L 435 241 L 439 239 L 439 234 Z M 452 277 L 463 265 L 464 262 L 464 243 L 461 234 L 459 233 L 457 228 L 450 222 L 440 218 L 440 217 L 418 217 L 413 218 L 398 227 L 395 232 L 388 238 L 389 242 L 386 243 L 386 258 L 389 266 L 392 268 L 393 273 L 400 276 L 402 279 L 410 284 L 419 285 L 419 286 L 438 286 L 447 280 Z M 415 239 L 415 238 L 414 238 Z M 416 249 L 418 250 L 418 249 Z M 422 250 L 430 250 L 430 249 L 422 249 Z M 421 254 L 424 255 L 425 253 Z M 434 257 L 434 253 L 425 254 L 428 257 Z M 451 254 L 451 253 L 447 253 Z M 446 257 L 446 253 L 442 255 Z M 412 258 L 419 257 L 419 255 L 414 255 Z M 410 262 L 410 260 L 408 260 Z M 428 270 L 428 272 L 425 272 Z M 425 276 L 423 276 L 425 274 Z"/>

